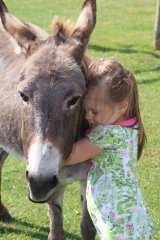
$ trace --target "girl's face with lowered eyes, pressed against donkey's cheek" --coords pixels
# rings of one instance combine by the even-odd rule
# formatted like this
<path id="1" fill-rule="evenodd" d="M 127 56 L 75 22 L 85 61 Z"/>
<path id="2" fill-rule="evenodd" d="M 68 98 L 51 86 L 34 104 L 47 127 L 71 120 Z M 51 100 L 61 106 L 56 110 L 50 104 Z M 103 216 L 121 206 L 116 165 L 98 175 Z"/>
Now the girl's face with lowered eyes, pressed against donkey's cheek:
<path id="1" fill-rule="evenodd" d="M 128 103 L 113 103 L 107 101 L 105 89 L 102 86 L 90 89 L 84 99 L 86 119 L 93 125 L 109 125 L 124 120 Z"/>

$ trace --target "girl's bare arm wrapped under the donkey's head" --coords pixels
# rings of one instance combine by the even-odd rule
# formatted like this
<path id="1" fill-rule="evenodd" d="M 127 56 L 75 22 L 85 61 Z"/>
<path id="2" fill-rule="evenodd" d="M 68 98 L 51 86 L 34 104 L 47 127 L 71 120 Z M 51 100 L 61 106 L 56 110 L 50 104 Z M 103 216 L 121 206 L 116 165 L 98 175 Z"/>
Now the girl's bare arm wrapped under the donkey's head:
<path id="1" fill-rule="evenodd" d="M 101 153 L 103 153 L 103 150 L 93 144 L 89 138 L 85 137 L 74 143 L 72 153 L 65 165 L 80 163 Z"/>

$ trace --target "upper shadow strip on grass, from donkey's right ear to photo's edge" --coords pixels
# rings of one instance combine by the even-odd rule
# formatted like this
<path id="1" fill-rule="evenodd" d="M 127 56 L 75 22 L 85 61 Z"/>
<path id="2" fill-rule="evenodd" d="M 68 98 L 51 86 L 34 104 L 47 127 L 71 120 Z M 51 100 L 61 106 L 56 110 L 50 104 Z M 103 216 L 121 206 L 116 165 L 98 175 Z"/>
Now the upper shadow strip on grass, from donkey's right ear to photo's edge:
<path id="1" fill-rule="evenodd" d="M 154 58 L 160 58 L 160 53 L 154 53 L 152 51 L 138 51 L 134 49 L 133 45 L 120 45 L 119 48 L 107 48 L 103 47 L 100 45 L 89 45 L 88 47 L 91 50 L 94 50 L 96 52 L 119 52 L 119 53 L 128 53 L 128 54 L 133 54 L 133 53 L 143 53 L 147 55 L 151 55 Z"/>

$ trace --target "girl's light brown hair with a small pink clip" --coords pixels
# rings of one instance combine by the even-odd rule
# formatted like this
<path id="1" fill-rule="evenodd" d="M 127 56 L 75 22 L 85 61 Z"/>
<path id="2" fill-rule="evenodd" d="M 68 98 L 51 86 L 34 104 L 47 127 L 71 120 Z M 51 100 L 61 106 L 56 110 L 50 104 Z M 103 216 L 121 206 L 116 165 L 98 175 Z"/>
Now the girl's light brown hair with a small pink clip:
<path id="1" fill-rule="evenodd" d="M 128 102 L 126 119 L 136 117 L 139 127 L 138 159 L 142 154 L 146 142 L 146 134 L 143 127 L 136 79 L 132 73 L 123 68 L 116 60 L 99 59 L 92 62 L 87 71 L 87 88 L 94 88 L 104 84 L 106 97 L 113 103 L 123 100 Z"/>

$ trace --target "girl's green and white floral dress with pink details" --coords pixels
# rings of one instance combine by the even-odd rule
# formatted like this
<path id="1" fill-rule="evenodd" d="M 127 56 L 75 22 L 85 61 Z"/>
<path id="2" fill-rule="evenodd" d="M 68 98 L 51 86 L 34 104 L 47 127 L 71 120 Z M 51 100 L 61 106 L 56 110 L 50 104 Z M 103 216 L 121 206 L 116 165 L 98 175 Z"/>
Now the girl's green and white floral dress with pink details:
<path id="1" fill-rule="evenodd" d="M 101 240 L 149 240 L 153 223 L 135 177 L 138 130 L 108 125 L 88 136 L 104 153 L 93 158 L 87 206 Z"/>

